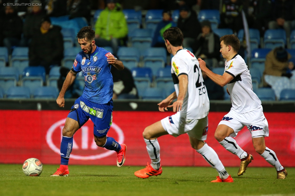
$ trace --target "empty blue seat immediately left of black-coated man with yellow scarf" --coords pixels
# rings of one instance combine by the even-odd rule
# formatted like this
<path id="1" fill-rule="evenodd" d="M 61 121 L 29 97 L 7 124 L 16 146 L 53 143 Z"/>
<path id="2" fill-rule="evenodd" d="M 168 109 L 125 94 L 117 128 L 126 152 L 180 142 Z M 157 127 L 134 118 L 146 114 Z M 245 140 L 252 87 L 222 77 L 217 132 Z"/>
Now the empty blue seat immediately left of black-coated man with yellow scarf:
<path id="1" fill-rule="evenodd" d="M 21 74 L 25 67 L 29 66 L 29 48 L 15 47 L 11 54 L 10 65 L 18 68 L 18 73 Z"/>

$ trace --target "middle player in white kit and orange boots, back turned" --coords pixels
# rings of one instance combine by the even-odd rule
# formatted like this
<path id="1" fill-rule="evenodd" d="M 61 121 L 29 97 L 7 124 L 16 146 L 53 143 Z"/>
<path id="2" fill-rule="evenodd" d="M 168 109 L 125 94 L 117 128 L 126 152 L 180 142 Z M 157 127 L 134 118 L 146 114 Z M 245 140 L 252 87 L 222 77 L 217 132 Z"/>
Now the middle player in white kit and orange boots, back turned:
<path id="1" fill-rule="evenodd" d="M 168 28 L 164 34 L 169 53 L 173 54 L 171 75 L 175 92 L 161 101 L 159 110 L 164 112 L 173 107 L 176 114 L 166 117 L 144 129 L 143 137 L 147 145 L 151 165 L 134 174 L 140 178 L 161 175 L 160 145 L 157 140 L 162 135 L 177 137 L 187 133 L 191 146 L 219 173 L 211 182 L 233 182 L 216 152 L 204 142 L 208 132 L 209 98 L 203 84 L 199 62 L 189 50 L 183 49 L 183 34 L 177 27 Z M 172 101 L 177 99 L 172 105 Z"/>

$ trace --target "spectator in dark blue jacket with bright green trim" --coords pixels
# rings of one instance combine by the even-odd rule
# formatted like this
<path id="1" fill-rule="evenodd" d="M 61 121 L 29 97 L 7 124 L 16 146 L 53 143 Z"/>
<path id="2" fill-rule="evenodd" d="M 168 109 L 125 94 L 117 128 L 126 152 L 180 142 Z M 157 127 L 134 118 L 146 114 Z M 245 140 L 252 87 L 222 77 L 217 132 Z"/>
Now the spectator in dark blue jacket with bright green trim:
<path id="1" fill-rule="evenodd" d="M 166 47 L 165 41 L 163 38 L 163 33 L 166 29 L 168 29 L 171 26 L 176 26 L 176 24 L 173 22 L 171 16 L 171 11 L 164 10 L 162 13 L 163 20 L 157 24 L 157 28 L 154 33 L 153 41 L 152 41 L 152 47 Z"/>

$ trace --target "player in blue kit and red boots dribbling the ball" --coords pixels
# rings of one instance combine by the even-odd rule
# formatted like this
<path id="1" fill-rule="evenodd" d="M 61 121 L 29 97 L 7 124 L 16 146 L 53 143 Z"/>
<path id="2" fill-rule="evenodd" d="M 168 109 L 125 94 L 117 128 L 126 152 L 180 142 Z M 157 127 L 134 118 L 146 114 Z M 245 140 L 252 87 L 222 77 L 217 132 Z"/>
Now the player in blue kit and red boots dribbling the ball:
<path id="1" fill-rule="evenodd" d="M 112 124 L 113 111 L 111 65 L 118 70 L 123 70 L 124 65 L 109 51 L 95 45 L 95 32 L 91 26 L 83 27 L 78 32 L 77 38 L 83 51 L 77 54 L 56 102 L 60 107 L 64 107 L 65 92 L 75 80 L 77 73 L 81 71 L 85 78 L 85 89 L 66 118 L 60 144 L 60 168 L 51 176 L 69 175 L 68 163 L 73 146 L 73 135 L 89 118 L 94 124 L 93 135 L 96 145 L 116 151 L 118 167 L 125 162 L 126 145 L 120 145 L 114 138 L 106 137 Z"/>

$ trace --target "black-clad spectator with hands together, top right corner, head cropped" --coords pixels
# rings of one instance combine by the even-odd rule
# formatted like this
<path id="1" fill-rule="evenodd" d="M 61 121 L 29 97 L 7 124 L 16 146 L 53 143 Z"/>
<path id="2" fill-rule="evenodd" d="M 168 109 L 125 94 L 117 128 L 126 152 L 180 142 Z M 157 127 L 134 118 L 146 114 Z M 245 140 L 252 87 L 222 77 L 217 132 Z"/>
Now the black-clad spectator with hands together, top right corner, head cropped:
<path id="1" fill-rule="evenodd" d="M 272 20 L 268 23 L 268 28 L 284 28 L 287 38 L 290 38 L 291 28 L 294 27 L 295 23 L 294 0 L 274 0 L 271 15 Z"/>

